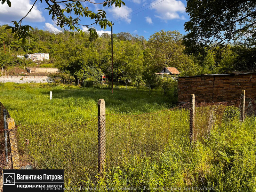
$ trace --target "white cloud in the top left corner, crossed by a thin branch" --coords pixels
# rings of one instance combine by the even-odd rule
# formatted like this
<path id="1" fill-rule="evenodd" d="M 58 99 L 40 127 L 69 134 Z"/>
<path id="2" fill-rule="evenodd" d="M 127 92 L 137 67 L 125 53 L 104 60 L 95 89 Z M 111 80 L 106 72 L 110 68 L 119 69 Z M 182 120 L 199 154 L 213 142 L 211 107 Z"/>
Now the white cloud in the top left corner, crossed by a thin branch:
<path id="1" fill-rule="evenodd" d="M 11 7 L 9 7 L 6 2 L 3 5 L 0 5 L 1 23 L 9 23 L 13 20 L 19 21 L 28 13 L 33 5 L 30 0 L 11 0 L 11 3 Z M 45 19 L 42 12 L 39 11 L 35 5 L 31 12 L 28 13 L 24 21 L 44 22 Z"/>

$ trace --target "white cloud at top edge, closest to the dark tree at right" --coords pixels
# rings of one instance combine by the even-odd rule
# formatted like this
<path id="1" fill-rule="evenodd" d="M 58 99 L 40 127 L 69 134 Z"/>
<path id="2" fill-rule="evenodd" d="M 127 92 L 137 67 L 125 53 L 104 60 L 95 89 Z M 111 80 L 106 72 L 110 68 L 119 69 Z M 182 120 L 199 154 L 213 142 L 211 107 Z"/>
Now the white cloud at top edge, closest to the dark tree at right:
<path id="1" fill-rule="evenodd" d="M 156 11 L 156 17 L 162 20 L 171 20 L 171 19 L 185 19 L 184 15 L 179 13 L 185 13 L 185 5 L 180 0 L 165 0 L 161 2 L 157 0 L 155 6 L 150 9 Z"/>

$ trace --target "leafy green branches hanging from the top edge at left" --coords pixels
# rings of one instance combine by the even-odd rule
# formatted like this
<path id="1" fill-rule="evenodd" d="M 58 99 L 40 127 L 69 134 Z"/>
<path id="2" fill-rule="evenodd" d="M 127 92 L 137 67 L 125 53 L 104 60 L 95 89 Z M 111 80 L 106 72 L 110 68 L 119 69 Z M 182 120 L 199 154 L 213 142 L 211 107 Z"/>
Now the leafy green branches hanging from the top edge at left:
<path id="1" fill-rule="evenodd" d="M 43 0 L 40 0 L 41 3 Z M 10 0 L 1 0 L 2 4 L 5 2 L 8 4 L 9 7 L 12 6 Z M 34 5 L 36 4 L 37 0 L 34 0 L 34 3 L 29 10 L 29 12 L 33 9 Z M 92 12 L 89 10 L 88 7 L 84 7 L 81 2 L 88 2 L 91 4 L 103 4 L 103 6 L 110 7 L 113 4 L 117 7 L 121 7 L 121 5 L 125 5 L 125 3 L 121 0 L 106 0 L 101 3 L 95 3 L 90 0 L 44 0 L 44 2 L 48 5 L 46 10 L 49 10 L 49 15 L 52 16 L 53 22 L 60 26 L 60 28 L 63 28 L 64 30 L 72 30 L 75 29 L 81 34 L 84 35 L 84 32 L 79 28 L 80 26 L 87 27 L 91 36 L 97 36 L 97 32 L 95 28 L 91 28 L 93 24 L 99 24 L 101 28 L 106 29 L 107 26 L 111 26 L 111 22 L 106 19 L 106 12 L 104 10 L 98 10 L 98 13 Z M 61 7 L 64 8 L 62 9 Z M 29 13 L 28 12 L 28 13 Z M 12 29 L 12 34 L 14 34 L 14 38 L 22 39 L 22 43 L 26 43 L 26 37 L 30 36 L 29 34 L 30 29 L 34 30 L 29 25 L 21 25 L 22 20 L 28 15 L 24 15 L 23 18 L 20 19 L 20 21 L 12 21 L 14 27 L 8 26 L 5 29 Z M 75 16 L 75 18 L 73 18 Z M 80 17 L 88 17 L 94 20 L 92 24 L 81 24 Z"/>

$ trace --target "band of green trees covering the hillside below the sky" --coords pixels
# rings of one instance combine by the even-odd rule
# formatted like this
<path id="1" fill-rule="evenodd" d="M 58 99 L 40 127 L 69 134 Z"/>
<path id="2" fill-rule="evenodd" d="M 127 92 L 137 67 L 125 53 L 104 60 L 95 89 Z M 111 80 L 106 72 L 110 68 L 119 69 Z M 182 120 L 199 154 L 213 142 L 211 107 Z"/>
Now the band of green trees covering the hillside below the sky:
<path id="1" fill-rule="evenodd" d="M 76 81 L 96 80 L 103 74 L 111 79 L 111 35 L 103 33 L 92 38 L 89 33 L 80 36 L 73 31 L 59 33 L 35 28 L 27 43 L 14 39 L 11 30 L 0 26 L 0 66 L 33 66 L 31 60 L 21 60 L 17 55 L 50 53 L 50 60 L 39 65 L 56 67 L 73 76 Z M 254 47 L 229 44 L 216 47 L 205 60 L 183 53 L 183 35 L 179 31 L 160 30 L 148 40 L 143 36 L 120 32 L 113 34 L 114 82 L 153 84 L 155 73 L 163 67 L 175 67 L 180 76 L 252 71 L 255 65 Z M 4 43 L 5 51 L 4 53 Z M 10 47 L 10 49 L 9 49 Z"/>

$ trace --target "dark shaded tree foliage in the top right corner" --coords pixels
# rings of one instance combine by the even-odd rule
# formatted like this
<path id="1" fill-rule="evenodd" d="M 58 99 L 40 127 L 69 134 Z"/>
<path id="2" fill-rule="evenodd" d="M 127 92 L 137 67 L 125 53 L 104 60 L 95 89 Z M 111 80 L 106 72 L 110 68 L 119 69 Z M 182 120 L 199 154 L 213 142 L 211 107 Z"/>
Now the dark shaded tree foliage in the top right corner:
<path id="1" fill-rule="evenodd" d="M 207 50 L 226 49 L 230 41 L 246 41 L 256 36 L 256 1 L 187 0 L 183 38 L 185 52 L 204 59 Z"/>

